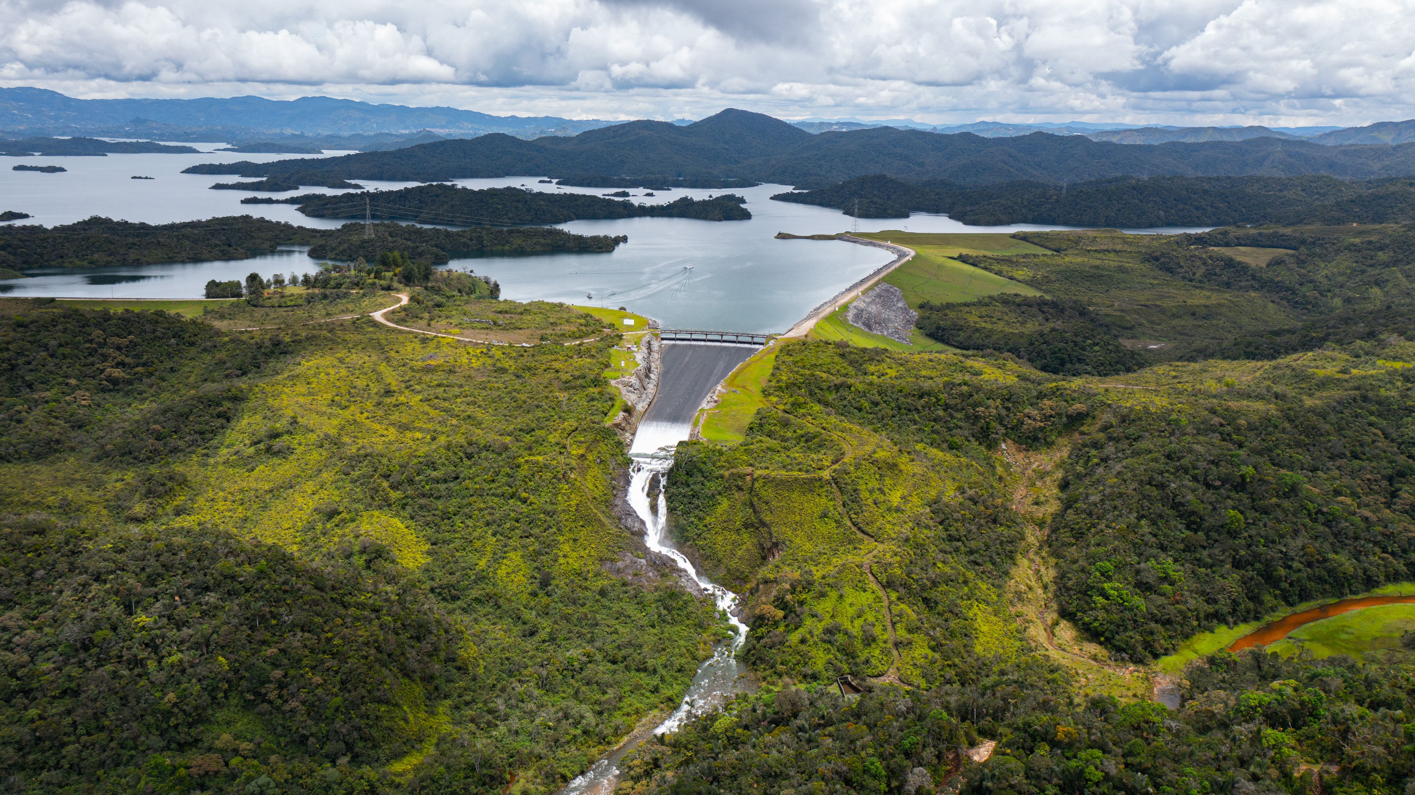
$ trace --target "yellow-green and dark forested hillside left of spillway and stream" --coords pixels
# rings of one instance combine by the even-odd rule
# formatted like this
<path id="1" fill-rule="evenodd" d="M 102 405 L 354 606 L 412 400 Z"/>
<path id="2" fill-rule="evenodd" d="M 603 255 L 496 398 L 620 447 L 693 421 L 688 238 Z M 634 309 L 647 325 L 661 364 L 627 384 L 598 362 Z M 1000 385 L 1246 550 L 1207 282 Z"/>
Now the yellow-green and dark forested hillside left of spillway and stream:
<path id="1" fill-rule="evenodd" d="M 7 787 L 545 791 L 720 634 L 661 566 L 601 566 L 644 553 L 614 335 L 3 310 Z"/>

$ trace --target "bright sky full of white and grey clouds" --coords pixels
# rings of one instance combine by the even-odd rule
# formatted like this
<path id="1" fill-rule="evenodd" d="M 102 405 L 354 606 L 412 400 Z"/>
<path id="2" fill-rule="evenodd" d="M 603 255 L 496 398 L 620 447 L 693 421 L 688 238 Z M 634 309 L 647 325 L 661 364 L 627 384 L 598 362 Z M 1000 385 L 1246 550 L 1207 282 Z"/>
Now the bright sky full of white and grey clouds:
<path id="1" fill-rule="evenodd" d="M 0 85 L 498 115 L 1415 117 L 1415 0 L 0 0 Z"/>

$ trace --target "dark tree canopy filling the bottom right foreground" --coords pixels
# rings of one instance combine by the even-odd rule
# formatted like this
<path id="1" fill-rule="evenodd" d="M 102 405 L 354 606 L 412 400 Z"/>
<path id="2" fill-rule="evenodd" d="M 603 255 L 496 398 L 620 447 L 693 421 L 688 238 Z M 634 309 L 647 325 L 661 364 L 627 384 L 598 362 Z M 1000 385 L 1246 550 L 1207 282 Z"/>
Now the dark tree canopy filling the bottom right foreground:
<path id="1" fill-rule="evenodd" d="M 617 792 L 1399 792 L 1415 757 L 1415 655 L 1283 661 L 1220 652 L 1189 669 L 1187 707 L 1075 699 L 1043 663 L 976 680 L 743 696 L 621 762 Z M 982 765 L 962 750 L 996 737 Z M 959 778 L 948 779 L 962 771 Z"/>

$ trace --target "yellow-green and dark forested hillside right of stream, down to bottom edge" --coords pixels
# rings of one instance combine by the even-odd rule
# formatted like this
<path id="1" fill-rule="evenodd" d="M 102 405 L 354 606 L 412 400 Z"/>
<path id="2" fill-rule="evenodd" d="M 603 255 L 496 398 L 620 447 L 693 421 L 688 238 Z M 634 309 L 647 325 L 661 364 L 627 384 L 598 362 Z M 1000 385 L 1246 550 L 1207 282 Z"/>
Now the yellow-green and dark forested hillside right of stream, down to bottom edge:
<path id="1" fill-rule="evenodd" d="M 751 594 L 746 656 L 778 686 L 642 747 L 621 787 L 1404 787 L 1411 652 L 1220 652 L 1179 712 L 1126 687 L 1204 628 L 1411 579 L 1412 361 L 1397 340 L 1077 379 L 782 348 L 746 440 L 682 446 L 668 487 L 678 538 Z M 809 685 L 841 672 L 859 700 Z"/>

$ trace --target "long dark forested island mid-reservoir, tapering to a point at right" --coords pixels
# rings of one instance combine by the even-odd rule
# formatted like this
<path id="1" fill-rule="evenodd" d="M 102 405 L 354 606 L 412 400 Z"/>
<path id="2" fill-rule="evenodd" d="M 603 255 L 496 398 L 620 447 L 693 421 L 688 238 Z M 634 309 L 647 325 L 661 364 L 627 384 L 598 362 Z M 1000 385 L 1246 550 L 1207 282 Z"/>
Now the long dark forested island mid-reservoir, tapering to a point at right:
<path id="1" fill-rule="evenodd" d="M 710 199 L 682 197 L 668 204 L 634 204 L 584 194 L 549 194 L 522 188 L 471 190 L 457 185 L 417 185 L 396 191 L 323 195 L 303 194 L 282 199 L 250 197 L 242 204 L 293 204 L 311 218 L 396 218 L 426 224 L 563 224 L 604 218 L 696 218 L 746 221 L 746 199 L 722 194 Z"/>

